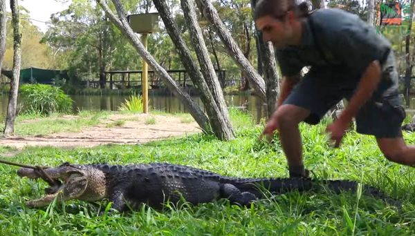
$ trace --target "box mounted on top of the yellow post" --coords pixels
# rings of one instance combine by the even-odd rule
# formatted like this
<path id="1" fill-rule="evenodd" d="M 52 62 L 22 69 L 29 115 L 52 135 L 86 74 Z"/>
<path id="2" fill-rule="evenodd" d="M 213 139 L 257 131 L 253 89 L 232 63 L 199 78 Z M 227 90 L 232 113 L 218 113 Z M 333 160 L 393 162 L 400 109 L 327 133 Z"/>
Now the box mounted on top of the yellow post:
<path id="1" fill-rule="evenodd" d="M 127 20 L 131 29 L 139 34 L 152 33 L 159 30 L 158 12 L 129 14 Z"/>

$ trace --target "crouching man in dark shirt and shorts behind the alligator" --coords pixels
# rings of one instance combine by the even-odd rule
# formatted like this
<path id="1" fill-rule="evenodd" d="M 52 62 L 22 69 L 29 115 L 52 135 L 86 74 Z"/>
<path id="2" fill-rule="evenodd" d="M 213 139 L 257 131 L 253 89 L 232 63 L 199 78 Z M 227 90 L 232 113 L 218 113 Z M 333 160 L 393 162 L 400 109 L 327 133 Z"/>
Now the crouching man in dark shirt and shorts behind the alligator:
<path id="1" fill-rule="evenodd" d="M 302 161 L 298 124 L 317 124 L 343 98 L 349 102 L 327 126 L 340 146 L 353 117 L 356 131 L 374 135 L 390 161 L 415 165 L 415 147 L 400 130 L 405 110 L 398 97 L 398 72 L 389 41 L 358 16 L 339 9 L 308 13 L 293 0 L 261 0 L 255 24 L 264 41 L 272 41 L 283 81 L 280 97 L 263 135 L 279 138 L 291 177 L 308 177 Z M 300 78 L 304 66 L 311 70 Z"/>

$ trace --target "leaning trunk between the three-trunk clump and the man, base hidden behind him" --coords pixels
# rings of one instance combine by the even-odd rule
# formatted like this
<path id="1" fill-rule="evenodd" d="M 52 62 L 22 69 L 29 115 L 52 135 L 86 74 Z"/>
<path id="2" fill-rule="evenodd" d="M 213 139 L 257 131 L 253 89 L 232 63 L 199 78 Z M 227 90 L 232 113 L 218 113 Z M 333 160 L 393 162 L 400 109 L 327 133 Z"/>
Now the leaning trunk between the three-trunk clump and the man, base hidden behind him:
<path id="1" fill-rule="evenodd" d="M 199 10 L 203 12 L 203 16 L 210 21 L 210 25 L 214 28 L 216 33 L 221 38 L 223 45 L 228 50 L 228 54 L 234 59 L 239 68 L 244 72 L 247 79 L 255 89 L 257 95 L 266 101 L 265 82 L 264 79 L 253 68 L 248 59 L 243 56 L 243 52 L 238 47 L 228 30 L 226 30 L 223 22 L 221 21 L 218 12 L 210 2 L 210 0 L 196 0 Z"/>

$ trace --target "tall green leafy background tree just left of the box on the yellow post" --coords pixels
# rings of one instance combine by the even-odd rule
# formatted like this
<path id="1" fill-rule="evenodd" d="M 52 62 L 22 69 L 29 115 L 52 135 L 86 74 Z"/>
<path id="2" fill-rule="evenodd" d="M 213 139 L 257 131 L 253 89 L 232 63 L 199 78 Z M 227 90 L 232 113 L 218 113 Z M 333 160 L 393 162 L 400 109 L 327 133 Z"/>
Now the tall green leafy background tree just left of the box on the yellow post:
<path id="1" fill-rule="evenodd" d="M 127 6 L 133 9 L 128 10 L 136 12 L 136 2 L 129 1 Z M 68 9 L 53 14 L 51 21 L 54 25 L 42 42 L 57 52 L 60 66 L 73 77 L 96 80 L 104 70 L 139 69 L 136 50 L 94 1 L 74 0 Z"/>

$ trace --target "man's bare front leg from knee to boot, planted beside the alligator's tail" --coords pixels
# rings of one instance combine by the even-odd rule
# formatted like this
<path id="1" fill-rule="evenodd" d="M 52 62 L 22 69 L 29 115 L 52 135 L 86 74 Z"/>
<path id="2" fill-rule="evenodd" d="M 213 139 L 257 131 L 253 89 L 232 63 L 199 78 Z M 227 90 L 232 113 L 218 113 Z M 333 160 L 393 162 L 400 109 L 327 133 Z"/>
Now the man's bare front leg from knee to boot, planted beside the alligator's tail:
<path id="1" fill-rule="evenodd" d="M 275 119 L 279 128 L 279 139 L 288 161 L 290 175 L 306 175 L 302 160 L 302 139 L 298 124 L 310 114 L 309 110 L 294 105 L 282 105 L 277 110 Z"/>

